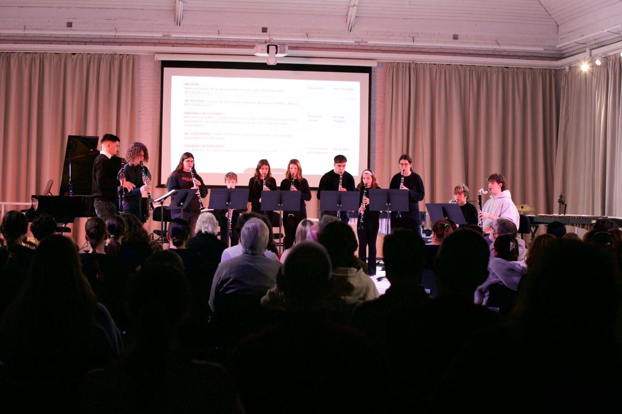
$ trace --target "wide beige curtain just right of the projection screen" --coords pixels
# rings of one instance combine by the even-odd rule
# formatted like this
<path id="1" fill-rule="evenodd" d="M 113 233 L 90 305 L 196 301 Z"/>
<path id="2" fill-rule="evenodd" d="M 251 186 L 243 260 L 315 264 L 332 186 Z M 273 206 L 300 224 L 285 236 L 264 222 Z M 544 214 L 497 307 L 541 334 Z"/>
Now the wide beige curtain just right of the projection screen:
<path id="1" fill-rule="evenodd" d="M 425 203 L 447 203 L 460 183 L 476 200 L 498 172 L 515 203 L 550 212 L 556 137 L 554 70 L 389 63 L 382 186 L 407 153 Z"/>

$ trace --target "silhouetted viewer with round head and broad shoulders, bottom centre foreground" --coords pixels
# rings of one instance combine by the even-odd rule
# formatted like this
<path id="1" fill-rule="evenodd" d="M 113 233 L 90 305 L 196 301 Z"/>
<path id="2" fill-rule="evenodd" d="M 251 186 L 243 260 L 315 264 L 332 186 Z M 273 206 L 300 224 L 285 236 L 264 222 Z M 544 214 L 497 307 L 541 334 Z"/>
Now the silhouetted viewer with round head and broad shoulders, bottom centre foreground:
<path id="1" fill-rule="evenodd" d="M 277 280 L 284 321 L 244 339 L 230 359 L 247 413 L 383 412 L 382 393 L 369 388 L 378 382 L 378 361 L 363 334 L 318 309 L 330 278 L 320 244 L 292 247 Z"/>

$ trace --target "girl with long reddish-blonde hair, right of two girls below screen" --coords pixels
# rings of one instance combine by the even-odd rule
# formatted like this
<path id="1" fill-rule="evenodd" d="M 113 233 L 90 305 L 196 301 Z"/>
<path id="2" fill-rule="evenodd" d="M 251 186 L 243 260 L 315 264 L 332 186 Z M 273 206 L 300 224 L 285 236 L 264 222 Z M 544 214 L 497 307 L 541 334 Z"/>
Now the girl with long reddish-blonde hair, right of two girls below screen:
<path id="1" fill-rule="evenodd" d="M 311 190 L 306 178 L 302 178 L 302 167 L 297 159 L 289 160 L 285 179 L 281 182 L 280 190 L 300 191 L 300 211 L 283 211 L 283 227 L 285 229 L 285 250 L 294 246 L 298 223 L 307 218 L 305 201 L 311 200 Z"/>

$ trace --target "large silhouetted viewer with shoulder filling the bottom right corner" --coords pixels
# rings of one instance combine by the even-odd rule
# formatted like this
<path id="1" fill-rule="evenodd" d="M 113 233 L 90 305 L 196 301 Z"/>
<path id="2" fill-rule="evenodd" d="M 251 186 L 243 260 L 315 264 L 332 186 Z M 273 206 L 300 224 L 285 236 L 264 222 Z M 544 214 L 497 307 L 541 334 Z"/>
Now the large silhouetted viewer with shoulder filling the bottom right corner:
<path id="1" fill-rule="evenodd" d="M 527 270 L 505 324 L 455 359 L 434 412 L 613 412 L 619 275 L 611 255 L 560 240 Z"/>

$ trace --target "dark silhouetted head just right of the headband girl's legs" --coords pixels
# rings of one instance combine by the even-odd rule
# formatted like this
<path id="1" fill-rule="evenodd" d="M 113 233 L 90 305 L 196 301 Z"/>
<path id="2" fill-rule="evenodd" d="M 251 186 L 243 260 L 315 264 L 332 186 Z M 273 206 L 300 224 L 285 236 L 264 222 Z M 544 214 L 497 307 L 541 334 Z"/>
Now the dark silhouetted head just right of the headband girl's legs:
<path id="1" fill-rule="evenodd" d="M 411 229 L 396 229 L 384 237 L 384 268 L 391 285 L 419 285 L 425 265 L 425 243 Z"/>

